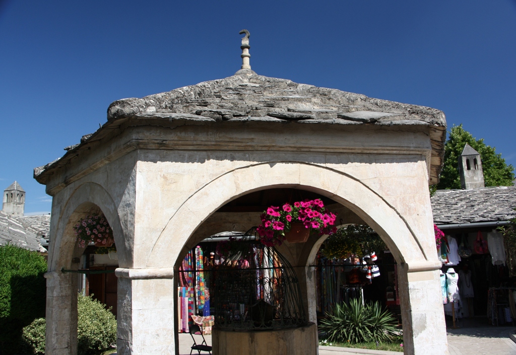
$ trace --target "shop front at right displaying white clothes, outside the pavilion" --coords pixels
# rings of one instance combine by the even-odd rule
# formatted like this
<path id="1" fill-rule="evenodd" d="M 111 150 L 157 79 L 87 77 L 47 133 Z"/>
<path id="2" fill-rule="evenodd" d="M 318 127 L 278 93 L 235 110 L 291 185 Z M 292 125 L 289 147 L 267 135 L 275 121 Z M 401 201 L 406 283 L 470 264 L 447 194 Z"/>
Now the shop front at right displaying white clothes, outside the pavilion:
<path id="1" fill-rule="evenodd" d="M 492 227 L 443 232 L 439 256 L 447 324 L 514 325 L 516 273 L 504 236 Z"/>

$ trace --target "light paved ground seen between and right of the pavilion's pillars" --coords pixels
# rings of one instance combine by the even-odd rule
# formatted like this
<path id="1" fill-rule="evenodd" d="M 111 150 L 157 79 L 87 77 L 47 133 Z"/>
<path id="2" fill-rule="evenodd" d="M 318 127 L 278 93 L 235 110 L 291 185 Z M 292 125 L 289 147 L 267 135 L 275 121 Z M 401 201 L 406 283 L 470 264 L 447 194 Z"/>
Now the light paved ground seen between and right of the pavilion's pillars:
<path id="1" fill-rule="evenodd" d="M 448 329 L 448 348 L 450 355 L 516 355 L 516 344 L 509 335 L 515 327 L 482 327 Z M 211 335 L 206 335 L 208 345 L 212 344 Z M 189 334 L 179 334 L 179 353 L 188 355 L 192 340 Z M 377 351 L 352 348 L 320 346 L 319 355 L 401 355 L 401 352 Z M 432 354 L 433 355 L 433 354 Z"/>

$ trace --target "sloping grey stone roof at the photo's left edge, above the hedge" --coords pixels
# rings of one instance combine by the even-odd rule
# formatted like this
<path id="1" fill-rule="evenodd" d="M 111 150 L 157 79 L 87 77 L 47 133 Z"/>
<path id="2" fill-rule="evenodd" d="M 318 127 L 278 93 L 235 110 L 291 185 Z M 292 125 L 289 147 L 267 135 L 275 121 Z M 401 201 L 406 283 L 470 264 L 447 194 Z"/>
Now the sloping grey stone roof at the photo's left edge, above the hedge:
<path id="1" fill-rule="evenodd" d="M 15 246 L 35 251 L 44 251 L 36 233 L 26 228 L 18 219 L 0 211 L 0 245 Z"/>

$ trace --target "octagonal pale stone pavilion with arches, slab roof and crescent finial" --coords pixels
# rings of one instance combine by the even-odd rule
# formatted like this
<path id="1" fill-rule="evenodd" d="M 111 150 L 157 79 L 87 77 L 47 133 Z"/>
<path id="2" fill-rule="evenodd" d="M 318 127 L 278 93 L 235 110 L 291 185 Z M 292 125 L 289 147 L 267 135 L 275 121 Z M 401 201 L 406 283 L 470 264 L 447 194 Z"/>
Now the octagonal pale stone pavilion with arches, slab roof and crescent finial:
<path id="1" fill-rule="evenodd" d="M 76 276 L 61 270 L 79 267 L 79 219 L 102 211 L 114 230 L 118 354 L 172 354 L 178 265 L 209 235 L 257 225 L 260 213 L 223 207 L 271 189 L 330 198 L 340 224 L 372 227 L 398 263 L 405 354 L 448 353 L 428 193 L 442 165 L 443 112 L 262 76 L 250 69 L 248 33 L 241 47 L 235 75 L 116 101 L 98 131 L 35 169 L 53 197 L 46 354 L 77 351 Z M 281 249 L 312 322 L 310 265 L 322 240 Z M 278 346 L 315 354 L 315 331 L 307 346 L 292 334 Z"/>

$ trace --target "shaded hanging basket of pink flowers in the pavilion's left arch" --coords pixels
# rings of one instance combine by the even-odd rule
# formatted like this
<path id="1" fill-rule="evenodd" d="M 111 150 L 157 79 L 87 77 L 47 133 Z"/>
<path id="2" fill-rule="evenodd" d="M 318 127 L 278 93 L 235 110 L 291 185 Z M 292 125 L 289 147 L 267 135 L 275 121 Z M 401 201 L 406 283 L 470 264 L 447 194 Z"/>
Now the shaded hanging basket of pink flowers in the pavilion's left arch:
<path id="1" fill-rule="evenodd" d="M 81 248 L 86 248 L 91 242 L 97 247 L 110 247 L 115 241 L 103 214 L 93 214 L 79 220 L 73 231 Z"/>

